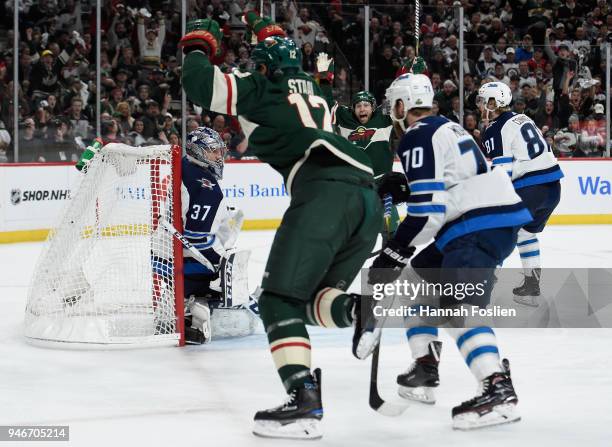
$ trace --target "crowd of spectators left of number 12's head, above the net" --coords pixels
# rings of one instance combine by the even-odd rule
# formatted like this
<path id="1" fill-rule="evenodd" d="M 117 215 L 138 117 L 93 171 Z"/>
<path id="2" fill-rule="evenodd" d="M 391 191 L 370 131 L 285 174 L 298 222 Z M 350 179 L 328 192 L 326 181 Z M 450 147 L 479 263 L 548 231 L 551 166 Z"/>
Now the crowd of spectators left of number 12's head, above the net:
<path id="1" fill-rule="evenodd" d="M 254 2 L 188 3 L 188 19 L 208 16 L 222 24 L 221 68 L 248 68 L 251 46 L 241 15 Z M 0 162 L 13 161 L 13 4 L 0 5 Z M 78 160 L 98 136 L 97 101 L 104 143 L 181 144 L 179 2 L 103 2 L 99 95 L 95 2 L 27 0 L 19 7 L 19 161 Z M 236 155 L 244 152 L 237 120 L 192 104 L 185 119 L 188 131 L 210 126 Z"/>

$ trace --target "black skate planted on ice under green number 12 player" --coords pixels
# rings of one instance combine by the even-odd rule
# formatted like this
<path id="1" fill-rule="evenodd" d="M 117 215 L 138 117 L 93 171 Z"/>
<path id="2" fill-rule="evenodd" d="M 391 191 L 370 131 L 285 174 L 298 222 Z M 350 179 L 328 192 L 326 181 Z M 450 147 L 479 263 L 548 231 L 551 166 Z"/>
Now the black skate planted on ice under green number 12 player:
<path id="1" fill-rule="evenodd" d="M 264 438 L 319 439 L 322 418 L 321 370 L 317 368 L 308 382 L 289 390 L 285 403 L 255 414 L 253 433 Z"/>

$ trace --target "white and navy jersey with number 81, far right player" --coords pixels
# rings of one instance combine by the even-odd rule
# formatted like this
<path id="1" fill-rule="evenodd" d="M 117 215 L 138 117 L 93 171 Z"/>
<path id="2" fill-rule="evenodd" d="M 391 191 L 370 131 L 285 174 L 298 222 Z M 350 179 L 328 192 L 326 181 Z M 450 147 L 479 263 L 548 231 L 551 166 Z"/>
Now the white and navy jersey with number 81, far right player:
<path id="1" fill-rule="evenodd" d="M 508 172 L 515 189 L 563 177 L 542 132 L 526 115 L 502 113 L 484 131 L 483 142 L 493 167 Z"/>

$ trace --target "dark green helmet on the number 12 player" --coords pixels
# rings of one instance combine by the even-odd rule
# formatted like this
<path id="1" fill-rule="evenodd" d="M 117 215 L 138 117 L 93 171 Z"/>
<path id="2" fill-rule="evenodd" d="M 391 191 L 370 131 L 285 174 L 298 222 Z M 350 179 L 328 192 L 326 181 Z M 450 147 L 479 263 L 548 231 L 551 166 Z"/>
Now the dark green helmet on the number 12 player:
<path id="1" fill-rule="evenodd" d="M 302 68 L 302 51 L 286 37 L 266 37 L 255 46 L 251 58 L 255 67 L 265 65 L 270 76 L 279 71 L 298 71 Z"/>

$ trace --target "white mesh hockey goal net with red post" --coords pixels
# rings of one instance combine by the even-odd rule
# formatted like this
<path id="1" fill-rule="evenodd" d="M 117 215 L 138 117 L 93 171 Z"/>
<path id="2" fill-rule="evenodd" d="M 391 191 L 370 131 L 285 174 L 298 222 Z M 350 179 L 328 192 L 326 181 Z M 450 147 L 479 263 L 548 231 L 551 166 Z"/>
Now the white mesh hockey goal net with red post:
<path id="1" fill-rule="evenodd" d="M 177 146 L 109 144 L 95 155 L 32 277 L 25 335 L 64 347 L 183 344 Z"/>

